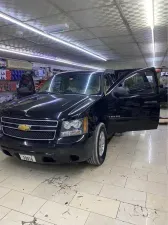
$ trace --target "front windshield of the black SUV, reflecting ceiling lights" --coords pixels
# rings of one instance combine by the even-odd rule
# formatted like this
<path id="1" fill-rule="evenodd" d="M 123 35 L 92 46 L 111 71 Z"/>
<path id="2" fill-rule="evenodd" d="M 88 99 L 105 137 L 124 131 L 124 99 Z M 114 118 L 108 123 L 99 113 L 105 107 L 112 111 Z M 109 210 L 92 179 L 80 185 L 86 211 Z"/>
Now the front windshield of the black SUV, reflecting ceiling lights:
<path id="1" fill-rule="evenodd" d="M 100 75 L 96 72 L 70 72 L 55 75 L 39 92 L 54 94 L 100 94 Z"/>

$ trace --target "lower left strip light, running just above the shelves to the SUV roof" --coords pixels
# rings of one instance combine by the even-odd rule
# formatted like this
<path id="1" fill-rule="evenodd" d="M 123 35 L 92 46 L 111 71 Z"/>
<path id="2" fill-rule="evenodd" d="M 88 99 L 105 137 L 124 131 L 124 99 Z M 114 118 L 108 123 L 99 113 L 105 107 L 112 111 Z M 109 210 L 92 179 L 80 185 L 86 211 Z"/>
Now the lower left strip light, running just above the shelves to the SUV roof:
<path id="1" fill-rule="evenodd" d="M 69 60 L 55 58 L 55 57 L 49 57 L 49 56 L 45 56 L 45 55 L 35 55 L 34 53 L 20 52 L 20 51 L 13 50 L 13 49 L 0 48 L 0 51 L 1 52 L 12 53 L 12 54 L 17 54 L 17 55 L 28 56 L 28 57 L 32 57 L 32 58 L 45 59 L 45 60 L 49 60 L 49 61 L 64 63 L 64 64 L 77 66 L 77 67 L 82 67 L 82 68 L 88 68 L 88 69 L 94 69 L 94 70 L 102 70 L 102 68 L 98 68 L 98 67 L 95 67 L 95 66 L 90 66 L 90 65 L 86 65 L 86 64 L 80 64 L 80 63 L 72 62 L 72 61 L 69 61 Z"/>

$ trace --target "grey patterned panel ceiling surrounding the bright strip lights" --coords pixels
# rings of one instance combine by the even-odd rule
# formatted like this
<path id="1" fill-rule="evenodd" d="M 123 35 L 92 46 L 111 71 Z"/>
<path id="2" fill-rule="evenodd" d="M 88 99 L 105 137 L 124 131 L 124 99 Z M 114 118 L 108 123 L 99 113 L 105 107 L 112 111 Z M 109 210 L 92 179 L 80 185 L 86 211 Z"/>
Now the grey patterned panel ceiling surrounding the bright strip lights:
<path id="1" fill-rule="evenodd" d="M 106 62 L 58 44 L 4 19 L 0 19 L 0 47 L 10 46 L 102 68 L 152 66 L 152 32 L 147 21 L 146 1 L 0 0 L 1 12 L 44 32 L 53 25 L 68 24 L 68 31 L 51 34 L 105 57 Z M 168 66 L 167 21 L 168 1 L 154 0 L 157 67 Z M 0 53 L 0 56 L 4 56 L 3 53 Z"/>

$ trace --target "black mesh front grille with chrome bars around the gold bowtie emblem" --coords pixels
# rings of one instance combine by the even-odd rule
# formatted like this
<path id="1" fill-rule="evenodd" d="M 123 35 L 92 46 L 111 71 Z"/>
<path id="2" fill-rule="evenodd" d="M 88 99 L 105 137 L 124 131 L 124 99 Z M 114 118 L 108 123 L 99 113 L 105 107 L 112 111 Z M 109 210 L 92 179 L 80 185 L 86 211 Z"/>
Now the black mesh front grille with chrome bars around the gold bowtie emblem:
<path id="1" fill-rule="evenodd" d="M 4 135 L 25 140 L 53 140 L 58 123 L 54 120 L 29 120 L 9 117 L 2 117 L 1 122 Z M 30 130 L 19 130 L 19 125 L 28 125 Z"/>

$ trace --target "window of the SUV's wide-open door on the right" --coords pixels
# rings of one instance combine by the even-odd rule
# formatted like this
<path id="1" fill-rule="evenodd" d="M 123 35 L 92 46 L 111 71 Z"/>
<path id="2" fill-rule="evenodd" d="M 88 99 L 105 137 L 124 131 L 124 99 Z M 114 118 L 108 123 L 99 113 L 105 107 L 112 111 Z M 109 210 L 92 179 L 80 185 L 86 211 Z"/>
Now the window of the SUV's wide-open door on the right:
<path id="1" fill-rule="evenodd" d="M 154 73 L 152 71 L 138 72 L 125 78 L 114 90 L 119 96 L 135 94 L 151 94 L 156 91 Z"/>

